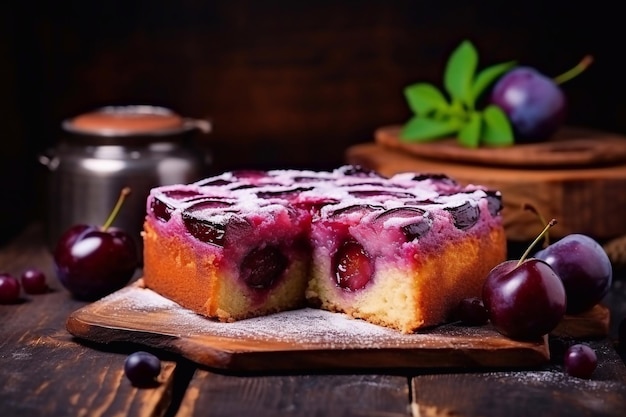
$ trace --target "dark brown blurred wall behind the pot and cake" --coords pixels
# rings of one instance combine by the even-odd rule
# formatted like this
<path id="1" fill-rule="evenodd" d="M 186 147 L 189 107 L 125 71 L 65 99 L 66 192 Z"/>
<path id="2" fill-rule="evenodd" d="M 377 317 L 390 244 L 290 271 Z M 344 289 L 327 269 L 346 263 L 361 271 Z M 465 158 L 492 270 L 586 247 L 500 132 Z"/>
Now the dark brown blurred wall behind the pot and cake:
<path id="1" fill-rule="evenodd" d="M 545 4 L 544 4 L 545 3 Z M 216 171 L 332 168 L 410 115 L 463 39 L 480 66 L 516 59 L 564 85 L 568 123 L 626 132 L 623 15 L 569 1 L 60 1 L 3 6 L 0 241 L 36 216 L 36 156 L 60 122 L 107 104 L 210 118 Z"/>

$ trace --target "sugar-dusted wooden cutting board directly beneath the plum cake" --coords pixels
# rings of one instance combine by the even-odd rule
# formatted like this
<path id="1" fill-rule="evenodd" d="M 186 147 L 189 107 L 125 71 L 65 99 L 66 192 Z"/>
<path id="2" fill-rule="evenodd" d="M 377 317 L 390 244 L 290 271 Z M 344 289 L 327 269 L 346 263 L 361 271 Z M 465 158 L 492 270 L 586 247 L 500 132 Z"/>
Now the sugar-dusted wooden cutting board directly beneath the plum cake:
<path id="1" fill-rule="evenodd" d="M 73 312 L 67 329 L 93 342 L 140 343 L 229 370 L 509 368 L 549 360 L 547 338 L 514 341 L 488 325 L 402 334 L 314 309 L 220 323 L 144 288 L 141 280 Z"/>

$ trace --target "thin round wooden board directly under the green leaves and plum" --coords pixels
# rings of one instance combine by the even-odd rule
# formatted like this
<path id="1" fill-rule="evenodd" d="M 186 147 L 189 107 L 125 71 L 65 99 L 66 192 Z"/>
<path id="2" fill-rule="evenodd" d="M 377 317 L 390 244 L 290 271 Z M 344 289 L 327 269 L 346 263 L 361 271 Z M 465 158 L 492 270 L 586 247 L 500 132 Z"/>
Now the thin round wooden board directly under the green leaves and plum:
<path id="1" fill-rule="evenodd" d="M 466 148 L 455 138 L 411 143 L 400 140 L 401 126 L 384 126 L 374 132 L 377 143 L 422 158 L 493 166 L 569 167 L 612 165 L 626 162 L 626 136 L 565 126 L 549 141 L 501 148 Z"/>

